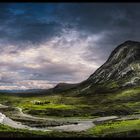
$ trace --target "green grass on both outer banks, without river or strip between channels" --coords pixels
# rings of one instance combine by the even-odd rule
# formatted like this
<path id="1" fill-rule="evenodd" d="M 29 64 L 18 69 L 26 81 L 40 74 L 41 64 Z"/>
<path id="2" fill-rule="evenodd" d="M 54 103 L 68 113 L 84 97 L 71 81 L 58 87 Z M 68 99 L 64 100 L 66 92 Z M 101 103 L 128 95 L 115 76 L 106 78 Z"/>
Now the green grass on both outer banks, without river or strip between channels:
<path id="1" fill-rule="evenodd" d="M 112 84 L 113 85 L 113 84 Z M 112 86 L 111 85 L 111 86 Z M 42 104 L 35 104 L 33 101 Z M 38 97 L 17 97 L 0 94 L 0 103 L 11 107 L 21 107 L 24 113 L 41 117 L 63 118 L 94 118 L 97 116 L 128 115 L 140 113 L 140 87 L 124 89 L 112 93 L 96 93 L 84 97 L 46 95 Z M 2 110 L 0 109 L 0 112 Z M 10 115 L 12 114 L 12 109 Z M 8 114 L 8 113 L 7 113 Z M 9 115 L 9 117 L 10 117 Z M 87 132 L 62 133 L 62 132 L 39 132 L 18 130 L 0 125 L 0 135 L 15 133 L 20 136 L 50 136 L 55 137 L 83 137 L 83 136 L 113 136 L 140 132 L 140 120 L 117 121 L 97 125 Z"/>

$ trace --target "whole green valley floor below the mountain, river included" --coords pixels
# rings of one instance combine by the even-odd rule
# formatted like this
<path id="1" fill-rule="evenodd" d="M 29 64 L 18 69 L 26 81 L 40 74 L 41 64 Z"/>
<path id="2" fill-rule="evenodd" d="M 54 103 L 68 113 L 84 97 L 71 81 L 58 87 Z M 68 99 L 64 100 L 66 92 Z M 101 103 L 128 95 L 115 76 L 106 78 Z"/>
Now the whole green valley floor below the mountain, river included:
<path id="1" fill-rule="evenodd" d="M 60 137 L 136 135 L 140 129 L 139 94 L 139 87 L 113 94 L 95 94 L 90 98 L 61 94 L 40 97 L 1 94 L 0 112 L 26 126 L 25 129 L 10 127 L 11 130 L 28 130 L 27 133 L 31 132 L 33 136 L 49 136 L 51 133 L 54 137 L 58 133 Z M 0 129 L 0 132 L 6 129 Z M 41 131 L 40 135 L 38 131 Z"/>

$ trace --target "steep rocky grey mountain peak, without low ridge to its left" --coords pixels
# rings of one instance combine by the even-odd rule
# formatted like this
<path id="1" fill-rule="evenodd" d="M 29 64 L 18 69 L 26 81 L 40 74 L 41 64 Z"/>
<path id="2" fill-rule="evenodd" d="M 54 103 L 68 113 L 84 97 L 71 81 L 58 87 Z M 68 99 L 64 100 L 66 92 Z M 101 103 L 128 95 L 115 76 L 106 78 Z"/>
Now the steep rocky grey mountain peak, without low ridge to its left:
<path id="1" fill-rule="evenodd" d="M 126 41 L 116 47 L 108 60 L 81 84 L 108 89 L 140 85 L 140 42 Z"/>

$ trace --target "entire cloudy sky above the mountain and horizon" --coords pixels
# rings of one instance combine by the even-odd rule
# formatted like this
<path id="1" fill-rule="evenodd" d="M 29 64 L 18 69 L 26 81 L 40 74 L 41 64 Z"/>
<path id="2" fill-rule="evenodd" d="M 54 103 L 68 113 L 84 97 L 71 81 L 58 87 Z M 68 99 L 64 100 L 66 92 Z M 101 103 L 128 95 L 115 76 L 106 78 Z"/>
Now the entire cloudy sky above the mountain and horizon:
<path id="1" fill-rule="evenodd" d="M 140 41 L 139 3 L 1 3 L 0 89 L 81 82 L 126 40 Z"/>

